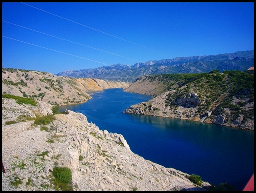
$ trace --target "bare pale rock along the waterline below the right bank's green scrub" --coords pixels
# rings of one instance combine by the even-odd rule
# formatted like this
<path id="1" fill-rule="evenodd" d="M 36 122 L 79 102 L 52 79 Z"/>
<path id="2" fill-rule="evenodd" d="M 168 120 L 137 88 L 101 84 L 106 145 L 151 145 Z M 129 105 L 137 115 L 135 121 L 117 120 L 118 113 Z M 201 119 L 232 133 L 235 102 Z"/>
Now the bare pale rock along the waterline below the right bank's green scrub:
<path id="1" fill-rule="evenodd" d="M 166 100 L 170 93 L 176 91 L 168 91 L 147 101 L 136 105 L 132 105 L 125 110 L 125 113 L 143 114 L 150 116 L 160 116 L 169 118 L 180 118 L 191 121 L 200 121 L 204 114 L 198 113 L 199 106 L 204 104 L 197 94 L 187 94 L 184 98 L 174 100 L 175 107 L 167 105 Z M 187 97 L 191 96 L 191 97 Z M 254 118 L 244 121 L 244 115 L 240 115 L 234 121 L 229 121 L 230 111 L 225 109 L 224 113 L 217 116 L 206 117 L 206 123 L 220 124 L 229 127 L 237 127 L 242 129 L 254 130 Z"/>

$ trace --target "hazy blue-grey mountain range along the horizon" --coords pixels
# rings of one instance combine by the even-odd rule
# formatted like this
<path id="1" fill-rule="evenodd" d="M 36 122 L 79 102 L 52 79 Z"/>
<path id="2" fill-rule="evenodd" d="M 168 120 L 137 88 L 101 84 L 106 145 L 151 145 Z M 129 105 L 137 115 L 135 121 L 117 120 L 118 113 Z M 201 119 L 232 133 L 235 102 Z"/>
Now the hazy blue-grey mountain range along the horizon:
<path id="1" fill-rule="evenodd" d="M 244 71 L 254 66 L 254 50 L 208 56 L 176 57 L 129 65 L 111 65 L 94 69 L 67 70 L 57 76 L 75 78 L 141 77 L 150 74 L 202 73 L 212 70 Z"/>

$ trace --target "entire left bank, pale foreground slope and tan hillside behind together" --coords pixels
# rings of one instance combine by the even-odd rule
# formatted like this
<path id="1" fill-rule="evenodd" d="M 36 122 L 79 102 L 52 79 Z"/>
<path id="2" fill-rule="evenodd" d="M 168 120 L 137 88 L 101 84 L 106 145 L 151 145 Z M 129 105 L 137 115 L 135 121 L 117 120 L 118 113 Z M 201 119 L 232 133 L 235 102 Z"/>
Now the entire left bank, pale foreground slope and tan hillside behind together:
<path id="1" fill-rule="evenodd" d="M 121 134 L 100 130 L 81 113 L 56 111 L 55 104 L 72 102 L 67 98 L 73 94 L 74 101 L 82 102 L 89 99 L 86 91 L 124 83 L 112 85 L 17 69 L 2 69 L 2 75 L 2 191 L 213 187 L 200 176 L 134 154 Z M 44 97 L 40 93 L 45 93 Z"/>

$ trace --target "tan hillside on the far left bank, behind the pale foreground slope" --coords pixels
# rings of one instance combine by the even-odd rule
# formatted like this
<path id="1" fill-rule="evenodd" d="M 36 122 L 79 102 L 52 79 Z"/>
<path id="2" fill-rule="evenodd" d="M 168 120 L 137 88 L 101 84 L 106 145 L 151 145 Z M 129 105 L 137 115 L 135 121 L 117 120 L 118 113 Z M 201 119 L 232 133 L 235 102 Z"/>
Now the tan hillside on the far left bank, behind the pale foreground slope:
<path id="1" fill-rule="evenodd" d="M 2 94 L 29 97 L 50 104 L 78 104 L 89 91 L 125 88 L 130 83 L 56 76 L 47 72 L 2 68 Z"/>

